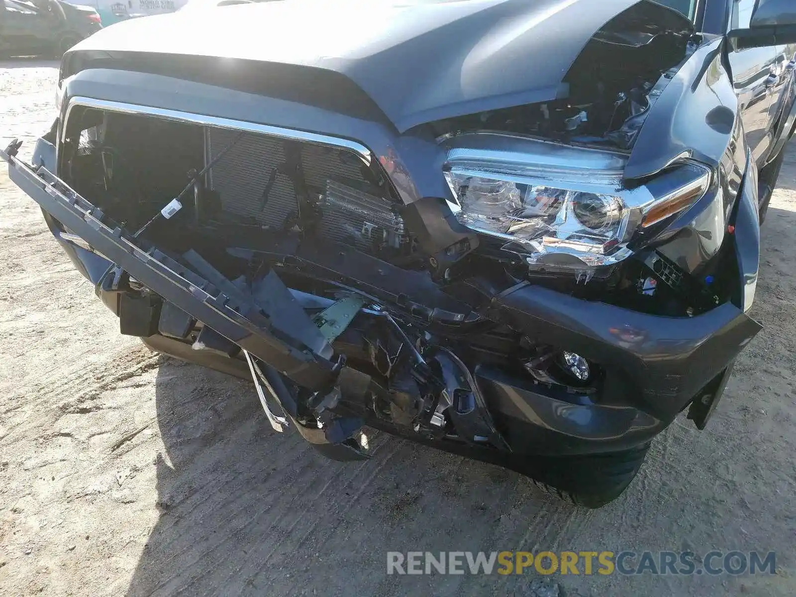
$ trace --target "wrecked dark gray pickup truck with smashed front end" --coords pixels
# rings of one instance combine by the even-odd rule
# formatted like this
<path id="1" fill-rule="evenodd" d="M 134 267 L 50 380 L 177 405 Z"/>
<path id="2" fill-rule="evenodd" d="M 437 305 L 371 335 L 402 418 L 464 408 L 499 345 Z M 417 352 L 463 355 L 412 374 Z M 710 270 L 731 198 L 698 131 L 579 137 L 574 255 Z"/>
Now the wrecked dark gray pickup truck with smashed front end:
<path id="1" fill-rule="evenodd" d="M 82 41 L 0 153 L 121 333 L 277 431 L 598 507 L 760 329 L 794 58 L 792 0 L 232 6 Z"/>

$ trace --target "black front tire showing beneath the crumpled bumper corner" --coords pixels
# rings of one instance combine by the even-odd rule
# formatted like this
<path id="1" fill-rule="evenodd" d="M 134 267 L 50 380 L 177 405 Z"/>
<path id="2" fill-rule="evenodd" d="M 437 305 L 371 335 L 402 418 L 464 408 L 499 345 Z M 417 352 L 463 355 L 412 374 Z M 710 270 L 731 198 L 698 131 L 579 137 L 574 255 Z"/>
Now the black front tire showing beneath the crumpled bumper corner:
<path id="1" fill-rule="evenodd" d="M 633 450 L 538 459 L 523 471 L 548 494 L 585 508 L 599 508 L 622 495 L 642 467 L 650 444 Z"/>

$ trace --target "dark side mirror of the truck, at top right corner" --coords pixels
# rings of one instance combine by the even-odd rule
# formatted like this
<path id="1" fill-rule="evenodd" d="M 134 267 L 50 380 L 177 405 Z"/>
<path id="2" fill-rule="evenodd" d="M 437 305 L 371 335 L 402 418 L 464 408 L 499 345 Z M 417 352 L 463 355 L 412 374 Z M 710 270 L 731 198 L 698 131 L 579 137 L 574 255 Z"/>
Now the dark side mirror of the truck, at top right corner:
<path id="1" fill-rule="evenodd" d="M 758 0 L 749 29 L 733 29 L 728 37 L 735 49 L 796 43 L 796 2 Z"/>

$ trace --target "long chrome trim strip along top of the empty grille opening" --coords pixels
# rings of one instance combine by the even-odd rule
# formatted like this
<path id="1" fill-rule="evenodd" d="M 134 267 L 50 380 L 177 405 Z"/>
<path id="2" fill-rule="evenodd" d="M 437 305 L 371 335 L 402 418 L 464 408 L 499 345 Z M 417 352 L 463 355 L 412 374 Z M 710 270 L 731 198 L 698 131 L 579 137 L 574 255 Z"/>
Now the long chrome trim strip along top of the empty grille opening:
<path id="1" fill-rule="evenodd" d="M 207 127 L 232 129 L 234 131 L 247 131 L 259 133 L 261 135 L 271 135 L 272 137 L 281 137 L 282 139 L 297 139 L 298 141 L 306 141 L 318 145 L 339 147 L 341 149 L 353 151 L 353 153 L 359 155 L 359 157 L 368 164 L 372 159 L 371 152 L 367 147 L 356 141 L 350 141 L 349 139 L 340 139 L 338 137 L 330 137 L 329 135 L 321 135 L 319 133 L 310 133 L 307 131 L 297 131 L 291 128 L 273 127 L 270 124 L 251 123 L 245 120 L 232 120 L 220 118 L 218 116 L 192 114 L 190 112 L 167 110 L 162 107 L 141 106 L 137 103 L 96 100 L 90 97 L 74 96 L 69 99 L 66 115 L 64 117 L 64 124 L 68 123 L 72 108 L 76 106 L 93 107 L 100 110 L 123 112 L 124 114 L 147 115 L 153 116 L 154 118 L 178 120 L 181 122 L 201 124 Z M 63 142 L 64 135 L 66 134 L 66 127 L 61 127 L 61 131 L 61 141 Z"/>

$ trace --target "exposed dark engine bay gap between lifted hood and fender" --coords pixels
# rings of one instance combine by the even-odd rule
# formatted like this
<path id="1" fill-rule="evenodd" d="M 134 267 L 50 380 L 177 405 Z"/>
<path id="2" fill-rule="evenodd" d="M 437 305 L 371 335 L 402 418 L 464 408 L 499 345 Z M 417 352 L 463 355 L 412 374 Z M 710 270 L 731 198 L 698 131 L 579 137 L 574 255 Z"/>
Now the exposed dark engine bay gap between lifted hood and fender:
<path id="1" fill-rule="evenodd" d="M 428 126 L 439 138 L 486 130 L 630 150 L 655 100 L 700 43 L 679 18 L 658 18 L 650 22 L 636 5 L 604 25 L 564 77 L 564 99 Z"/>

